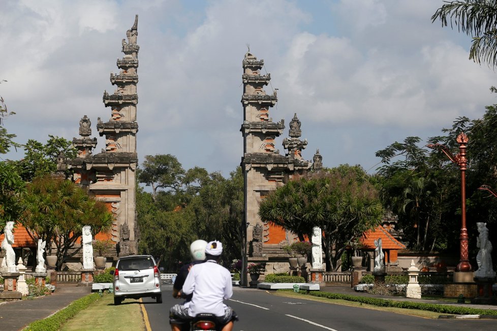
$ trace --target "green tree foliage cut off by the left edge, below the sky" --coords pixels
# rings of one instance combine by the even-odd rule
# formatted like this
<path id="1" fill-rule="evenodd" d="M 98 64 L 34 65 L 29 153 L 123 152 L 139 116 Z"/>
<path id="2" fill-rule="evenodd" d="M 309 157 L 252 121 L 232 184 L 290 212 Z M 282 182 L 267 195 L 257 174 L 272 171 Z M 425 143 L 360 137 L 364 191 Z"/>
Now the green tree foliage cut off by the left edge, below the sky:
<path id="1" fill-rule="evenodd" d="M 3 232 L 6 222 L 16 222 L 22 214 L 20 197 L 24 189 L 25 183 L 15 165 L 9 161 L 0 161 L 0 231 Z"/>

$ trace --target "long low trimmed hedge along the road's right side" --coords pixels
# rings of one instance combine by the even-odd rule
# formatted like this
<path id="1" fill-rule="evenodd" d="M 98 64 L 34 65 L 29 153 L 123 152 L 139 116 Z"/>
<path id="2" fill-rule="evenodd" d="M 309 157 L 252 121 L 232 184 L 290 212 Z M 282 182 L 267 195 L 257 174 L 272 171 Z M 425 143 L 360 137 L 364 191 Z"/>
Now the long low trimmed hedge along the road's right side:
<path id="1" fill-rule="evenodd" d="M 313 291 L 313 292 L 308 292 L 306 294 L 325 297 L 327 299 L 341 299 L 346 301 L 360 302 L 363 304 L 368 304 L 378 307 L 418 309 L 418 310 L 426 310 L 436 313 L 454 314 L 454 315 L 497 315 L 497 310 L 490 310 L 490 309 L 477 309 L 477 308 L 467 308 L 467 307 L 449 306 L 441 304 L 428 304 L 428 303 L 410 302 L 410 301 L 396 301 L 396 300 L 379 299 L 376 297 L 354 296 L 350 294 L 339 294 L 339 293 L 330 293 L 330 292 Z"/>

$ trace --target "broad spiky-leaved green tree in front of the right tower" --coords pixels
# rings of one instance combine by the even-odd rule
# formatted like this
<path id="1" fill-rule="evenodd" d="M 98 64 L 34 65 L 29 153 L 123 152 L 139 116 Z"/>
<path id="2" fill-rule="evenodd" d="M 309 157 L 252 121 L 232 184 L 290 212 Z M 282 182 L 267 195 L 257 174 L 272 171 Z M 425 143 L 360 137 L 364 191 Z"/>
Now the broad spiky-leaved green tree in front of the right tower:
<path id="1" fill-rule="evenodd" d="M 323 229 L 327 271 L 339 267 L 347 244 L 379 224 L 378 191 L 360 166 L 341 165 L 287 182 L 261 202 L 259 217 L 293 231 L 302 240 Z"/>

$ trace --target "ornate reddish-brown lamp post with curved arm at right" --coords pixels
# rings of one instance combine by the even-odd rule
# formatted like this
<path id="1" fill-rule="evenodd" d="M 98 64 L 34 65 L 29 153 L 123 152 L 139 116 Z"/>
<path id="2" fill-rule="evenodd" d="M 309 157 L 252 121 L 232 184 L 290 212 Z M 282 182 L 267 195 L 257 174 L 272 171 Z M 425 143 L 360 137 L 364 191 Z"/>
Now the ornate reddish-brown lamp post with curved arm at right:
<path id="1" fill-rule="evenodd" d="M 426 147 L 431 149 L 439 149 L 444 152 L 449 159 L 459 166 L 461 171 L 461 233 L 459 236 L 459 252 L 460 260 L 457 264 L 456 271 L 470 272 L 472 271 L 471 263 L 468 259 L 468 229 L 466 228 L 466 169 L 468 159 L 466 158 L 466 145 L 468 144 L 468 136 L 460 133 L 456 138 L 459 144 L 459 154 L 453 155 L 449 149 L 441 144 L 428 144 Z"/>

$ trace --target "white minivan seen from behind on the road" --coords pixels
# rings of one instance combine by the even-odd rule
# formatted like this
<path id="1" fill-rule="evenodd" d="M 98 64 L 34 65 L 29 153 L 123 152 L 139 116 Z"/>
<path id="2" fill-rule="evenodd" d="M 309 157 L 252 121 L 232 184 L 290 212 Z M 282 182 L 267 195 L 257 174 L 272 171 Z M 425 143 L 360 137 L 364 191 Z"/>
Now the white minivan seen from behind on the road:
<path id="1" fill-rule="evenodd" d="M 117 260 L 114 271 L 114 305 L 125 299 L 152 297 L 162 304 L 161 273 L 151 255 L 131 255 Z"/>

